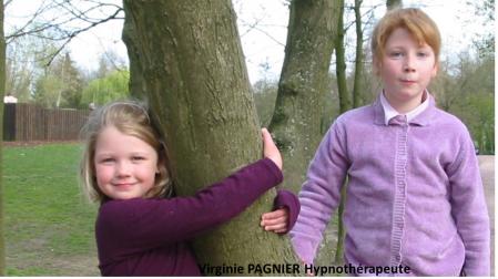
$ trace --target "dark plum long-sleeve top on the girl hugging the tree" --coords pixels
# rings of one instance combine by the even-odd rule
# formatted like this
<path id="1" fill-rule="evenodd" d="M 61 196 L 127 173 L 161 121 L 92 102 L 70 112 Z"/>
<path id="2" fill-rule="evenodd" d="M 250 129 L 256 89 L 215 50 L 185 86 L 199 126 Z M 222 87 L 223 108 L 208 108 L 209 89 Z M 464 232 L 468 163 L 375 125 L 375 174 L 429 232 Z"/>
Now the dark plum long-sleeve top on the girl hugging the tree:
<path id="1" fill-rule="evenodd" d="M 192 197 L 105 202 L 95 224 L 101 273 L 200 276 L 187 241 L 235 217 L 282 179 L 278 167 L 264 158 Z M 292 227 L 297 197 L 280 190 L 275 207 L 282 206 L 288 208 Z"/>

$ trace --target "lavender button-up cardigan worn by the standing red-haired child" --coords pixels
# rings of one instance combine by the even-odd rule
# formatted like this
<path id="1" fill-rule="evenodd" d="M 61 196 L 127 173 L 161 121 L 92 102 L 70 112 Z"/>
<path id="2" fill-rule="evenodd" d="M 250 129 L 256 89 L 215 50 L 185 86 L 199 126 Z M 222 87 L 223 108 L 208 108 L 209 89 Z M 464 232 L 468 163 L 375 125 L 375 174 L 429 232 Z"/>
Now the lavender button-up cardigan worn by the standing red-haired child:
<path id="1" fill-rule="evenodd" d="M 386 125 L 378 100 L 335 121 L 299 193 L 291 237 L 302 260 L 313 262 L 347 175 L 346 262 L 489 276 L 489 217 L 472 141 L 429 97 L 410 122 L 397 116 Z"/>

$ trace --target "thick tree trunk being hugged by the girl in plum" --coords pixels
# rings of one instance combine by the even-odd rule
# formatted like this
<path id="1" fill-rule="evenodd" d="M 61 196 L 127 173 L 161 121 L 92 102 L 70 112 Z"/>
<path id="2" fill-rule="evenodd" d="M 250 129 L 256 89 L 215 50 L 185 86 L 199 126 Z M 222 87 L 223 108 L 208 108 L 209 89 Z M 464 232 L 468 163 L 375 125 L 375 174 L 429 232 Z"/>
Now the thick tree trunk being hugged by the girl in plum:
<path id="1" fill-rule="evenodd" d="M 261 158 L 232 2 L 125 0 L 124 10 L 124 32 L 133 32 L 123 35 L 135 52 L 131 68 L 140 64 L 142 87 L 166 135 L 176 194 L 192 195 Z M 197 262 L 296 262 L 287 238 L 258 227 L 274 197 L 272 190 L 227 225 L 197 238 Z"/>

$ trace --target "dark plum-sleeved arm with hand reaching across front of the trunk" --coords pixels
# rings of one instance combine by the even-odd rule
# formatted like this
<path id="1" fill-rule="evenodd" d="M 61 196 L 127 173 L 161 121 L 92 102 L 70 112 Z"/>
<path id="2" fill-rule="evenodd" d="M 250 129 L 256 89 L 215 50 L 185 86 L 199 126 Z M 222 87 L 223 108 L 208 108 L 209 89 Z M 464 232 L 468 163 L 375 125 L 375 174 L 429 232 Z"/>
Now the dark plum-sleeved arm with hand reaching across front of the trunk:
<path id="1" fill-rule="evenodd" d="M 267 132 L 263 136 L 266 158 L 192 197 L 136 198 L 103 204 L 95 231 L 99 246 L 118 249 L 121 254 L 148 250 L 191 239 L 242 213 L 283 179 L 278 149 Z"/>

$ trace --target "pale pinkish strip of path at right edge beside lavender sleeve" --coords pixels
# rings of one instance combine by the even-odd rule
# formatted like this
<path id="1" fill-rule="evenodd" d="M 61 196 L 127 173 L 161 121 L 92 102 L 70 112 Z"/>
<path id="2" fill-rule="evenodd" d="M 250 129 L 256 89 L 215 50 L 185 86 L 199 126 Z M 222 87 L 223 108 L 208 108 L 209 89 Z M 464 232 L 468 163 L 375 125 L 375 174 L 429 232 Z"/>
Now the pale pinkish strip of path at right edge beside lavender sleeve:
<path id="1" fill-rule="evenodd" d="M 495 275 L 495 156 L 478 156 L 491 225 L 491 276 Z"/>

